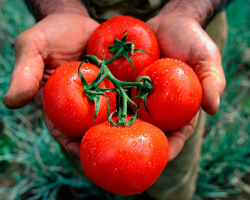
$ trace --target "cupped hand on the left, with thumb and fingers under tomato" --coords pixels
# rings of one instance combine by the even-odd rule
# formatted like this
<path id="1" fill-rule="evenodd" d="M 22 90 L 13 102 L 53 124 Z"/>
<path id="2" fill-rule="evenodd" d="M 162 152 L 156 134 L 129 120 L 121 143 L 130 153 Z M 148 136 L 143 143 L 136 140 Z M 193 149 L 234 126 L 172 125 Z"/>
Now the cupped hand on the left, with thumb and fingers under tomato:
<path id="1" fill-rule="evenodd" d="M 48 15 L 20 34 L 15 43 L 16 61 L 4 104 L 8 108 L 20 108 L 36 95 L 38 105 L 43 107 L 42 90 L 50 74 L 64 63 L 81 59 L 90 34 L 98 25 L 89 16 L 61 12 Z M 57 130 L 44 110 L 43 116 L 54 139 L 79 157 L 80 140 Z"/>

